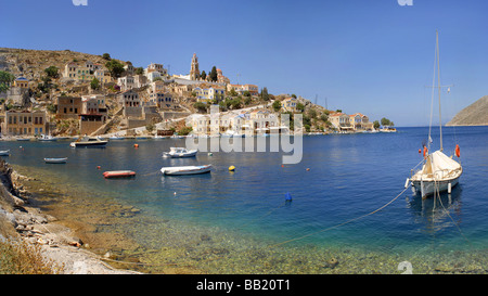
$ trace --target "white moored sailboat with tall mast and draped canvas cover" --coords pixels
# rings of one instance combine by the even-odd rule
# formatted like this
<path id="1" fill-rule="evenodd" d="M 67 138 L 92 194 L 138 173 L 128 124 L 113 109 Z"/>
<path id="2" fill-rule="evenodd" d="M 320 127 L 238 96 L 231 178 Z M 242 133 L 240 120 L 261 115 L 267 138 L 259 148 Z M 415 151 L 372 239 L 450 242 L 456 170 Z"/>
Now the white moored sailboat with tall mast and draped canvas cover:
<path id="1" fill-rule="evenodd" d="M 447 156 L 444 153 L 442 146 L 442 123 L 440 114 L 440 65 L 439 65 L 439 34 L 436 30 L 436 65 L 437 65 L 437 87 L 435 87 L 435 68 L 434 68 L 434 81 L 433 81 L 433 96 L 434 102 L 434 88 L 438 89 L 439 93 L 439 129 L 440 129 L 440 149 L 434 153 L 428 153 L 431 147 L 431 128 L 428 134 L 428 143 L 424 145 L 424 159 L 420 163 L 422 168 L 414 171 L 411 170 L 410 178 L 407 179 L 406 186 L 409 181 L 412 184 L 414 193 L 420 193 L 422 198 L 429 195 L 437 194 L 447 191 L 451 193 L 453 186 L 459 183 L 459 178 L 463 173 L 461 166 L 461 153 L 459 145 L 455 145 L 454 154 L 458 157 L 458 162 L 453 159 L 453 156 Z M 450 91 L 450 88 L 448 89 Z M 431 113 L 431 127 L 432 127 L 432 113 Z M 421 151 L 419 151 L 421 152 Z M 419 165 L 420 165 L 419 164 Z"/>

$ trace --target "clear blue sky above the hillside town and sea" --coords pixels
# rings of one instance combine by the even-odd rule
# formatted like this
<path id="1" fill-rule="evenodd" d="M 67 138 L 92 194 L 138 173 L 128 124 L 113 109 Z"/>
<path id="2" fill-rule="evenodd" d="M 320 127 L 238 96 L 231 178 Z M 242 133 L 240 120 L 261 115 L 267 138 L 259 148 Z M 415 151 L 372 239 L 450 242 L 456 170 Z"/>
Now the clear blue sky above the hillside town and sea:
<path id="1" fill-rule="evenodd" d="M 170 65 L 214 65 L 235 83 L 295 93 L 396 126 L 428 124 L 439 30 L 444 115 L 488 94 L 488 1 L 0 0 L 0 47 L 65 50 Z"/>

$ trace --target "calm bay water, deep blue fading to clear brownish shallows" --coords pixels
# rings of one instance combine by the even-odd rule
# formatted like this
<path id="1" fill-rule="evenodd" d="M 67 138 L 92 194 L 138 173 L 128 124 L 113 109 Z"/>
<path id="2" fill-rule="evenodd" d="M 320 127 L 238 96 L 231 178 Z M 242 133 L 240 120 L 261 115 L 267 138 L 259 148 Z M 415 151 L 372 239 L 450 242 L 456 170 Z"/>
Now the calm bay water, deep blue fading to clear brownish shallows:
<path id="1" fill-rule="evenodd" d="M 77 231 L 118 268 L 147 273 L 486 273 L 488 127 L 444 127 L 463 175 L 450 194 L 422 200 L 404 184 L 428 127 L 395 133 L 304 136 L 298 164 L 271 152 L 162 157 L 184 139 L 0 142 L 31 177 L 30 203 Z M 439 130 L 432 128 L 432 152 Z M 137 144 L 137 146 L 134 145 Z M 68 157 L 46 164 L 44 157 Z M 457 157 L 453 156 L 455 159 Z M 162 167 L 211 164 L 210 173 Z M 229 167 L 234 166 L 234 171 Z M 104 179 L 130 169 L 129 179 Z M 291 197 L 291 201 L 290 201 Z M 118 263 L 117 263 L 118 262 Z"/>

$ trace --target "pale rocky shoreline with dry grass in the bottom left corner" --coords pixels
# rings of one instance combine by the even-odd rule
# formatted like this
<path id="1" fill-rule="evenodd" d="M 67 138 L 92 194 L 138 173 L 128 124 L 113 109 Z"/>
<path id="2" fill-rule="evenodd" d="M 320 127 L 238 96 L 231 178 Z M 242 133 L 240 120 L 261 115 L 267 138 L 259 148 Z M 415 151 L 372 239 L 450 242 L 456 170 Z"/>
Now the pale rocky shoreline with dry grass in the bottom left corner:
<path id="1" fill-rule="evenodd" d="M 63 274 L 137 274 L 130 270 L 114 269 L 99 255 L 86 249 L 74 231 L 56 223 L 57 219 L 30 206 L 30 193 L 23 181 L 33 178 L 17 173 L 0 159 L 0 222 L 5 231 L 33 246 L 39 246 L 43 257 L 59 267 Z M 8 230 L 5 230 L 8 229 Z M 7 237 L 0 233 L 0 240 Z"/>

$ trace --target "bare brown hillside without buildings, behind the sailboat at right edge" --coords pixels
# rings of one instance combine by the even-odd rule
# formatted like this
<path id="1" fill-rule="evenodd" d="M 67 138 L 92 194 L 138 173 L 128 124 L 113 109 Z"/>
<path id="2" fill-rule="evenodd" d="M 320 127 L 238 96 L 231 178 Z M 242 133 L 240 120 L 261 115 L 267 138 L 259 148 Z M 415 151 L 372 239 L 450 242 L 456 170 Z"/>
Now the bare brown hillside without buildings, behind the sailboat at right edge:
<path id="1" fill-rule="evenodd" d="M 488 95 L 459 112 L 447 126 L 487 126 Z"/>

